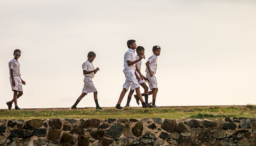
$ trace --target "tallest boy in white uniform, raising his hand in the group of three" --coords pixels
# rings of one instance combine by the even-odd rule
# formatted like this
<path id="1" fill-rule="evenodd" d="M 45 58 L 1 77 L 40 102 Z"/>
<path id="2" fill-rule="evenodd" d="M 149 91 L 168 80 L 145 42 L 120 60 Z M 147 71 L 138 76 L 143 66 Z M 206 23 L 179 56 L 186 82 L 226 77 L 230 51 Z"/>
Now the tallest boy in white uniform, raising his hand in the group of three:
<path id="1" fill-rule="evenodd" d="M 135 70 L 136 70 L 136 68 L 138 68 L 136 63 L 139 62 L 143 58 L 143 56 L 140 55 L 139 59 L 136 60 L 136 58 L 135 58 L 136 46 L 137 45 L 136 45 L 135 40 L 131 39 L 131 40 L 127 41 L 128 51 L 126 51 L 124 54 L 124 70 L 123 70 L 124 75 L 125 75 L 125 82 L 124 82 L 123 90 L 120 94 L 119 100 L 115 107 L 117 109 L 122 109 L 120 104 L 124 98 L 125 93 L 127 92 L 127 90 L 129 89 L 130 86 L 131 86 L 131 90 L 135 89 L 136 94 L 139 95 L 138 97 L 139 97 L 140 101 L 142 102 L 143 108 L 147 108 L 149 105 L 151 105 L 151 103 L 146 104 L 143 101 L 142 96 L 140 94 L 140 86 L 139 86 L 138 81 L 135 76 Z M 143 79 L 143 75 L 140 73 L 139 70 L 137 70 L 137 71 L 138 71 L 140 77 Z"/>

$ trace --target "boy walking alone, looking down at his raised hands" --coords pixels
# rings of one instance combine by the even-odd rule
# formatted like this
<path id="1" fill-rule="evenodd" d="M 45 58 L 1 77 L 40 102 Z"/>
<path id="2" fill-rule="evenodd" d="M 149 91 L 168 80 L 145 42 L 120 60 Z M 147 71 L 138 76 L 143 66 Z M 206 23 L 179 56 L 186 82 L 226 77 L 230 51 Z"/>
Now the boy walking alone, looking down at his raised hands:
<path id="1" fill-rule="evenodd" d="M 98 97 L 97 97 L 98 92 L 92 80 L 94 77 L 94 74 L 96 74 L 99 70 L 99 68 L 94 69 L 94 66 L 93 66 L 93 61 L 95 57 L 96 57 L 96 54 L 93 51 L 90 51 L 87 55 L 88 59 L 86 60 L 86 62 L 82 64 L 83 75 L 84 75 L 84 80 L 83 80 L 84 86 L 83 86 L 82 94 L 78 97 L 75 104 L 71 107 L 72 110 L 77 110 L 78 108 L 76 107 L 76 105 L 81 101 L 81 99 L 85 95 L 91 92 L 93 92 L 93 97 L 96 104 L 96 110 L 102 110 L 102 107 L 99 107 Z"/>

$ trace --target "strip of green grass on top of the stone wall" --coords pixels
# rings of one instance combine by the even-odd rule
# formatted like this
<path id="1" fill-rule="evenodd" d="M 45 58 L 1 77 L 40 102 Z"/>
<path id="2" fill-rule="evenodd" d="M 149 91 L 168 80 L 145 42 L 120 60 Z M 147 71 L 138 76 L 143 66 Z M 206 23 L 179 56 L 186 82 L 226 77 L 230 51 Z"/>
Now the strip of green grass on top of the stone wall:
<path id="1" fill-rule="evenodd" d="M 95 108 L 94 108 L 95 109 Z M 182 118 L 183 117 L 183 118 Z M 169 118 L 169 119 L 218 119 L 225 117 L 256 117 L 256 105 L 244 106 L 209 106 L 209 107 L 158 107 L 158 108 L 105 108 L 105 110 L 92 110 L 83 108 L 79 110 L 63 109 L 37 109 L 37 110 L 0 110 L 0 119 L 108 119 L 108 118 Z"/>

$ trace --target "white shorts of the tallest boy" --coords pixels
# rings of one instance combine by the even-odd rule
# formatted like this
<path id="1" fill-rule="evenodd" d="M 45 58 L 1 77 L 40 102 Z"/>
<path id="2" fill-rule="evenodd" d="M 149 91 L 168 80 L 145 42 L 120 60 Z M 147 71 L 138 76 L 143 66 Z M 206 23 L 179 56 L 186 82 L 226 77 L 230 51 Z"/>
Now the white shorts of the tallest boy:
<path id="1" fill-rule="evenodd" d="M 134 73 L 128 72 L 128 73 L 125 73 L 124 75 L 125 75 L 125 82 L 123 85 L 123 89 L 125 88 L 128 91 L 130 86 L 131 86 L 131 90 L 134 90 L 140 87 Z"/>

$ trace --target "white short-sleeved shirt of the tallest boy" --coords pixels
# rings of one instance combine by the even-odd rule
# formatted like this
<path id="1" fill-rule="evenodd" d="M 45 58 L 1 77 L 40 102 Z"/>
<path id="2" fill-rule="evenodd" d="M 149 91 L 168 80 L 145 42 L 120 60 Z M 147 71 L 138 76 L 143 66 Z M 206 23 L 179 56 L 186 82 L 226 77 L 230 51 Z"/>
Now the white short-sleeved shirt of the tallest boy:
<path id="1" fill-rule="evenodd" d="M 127 61 L 135 61 L 136 60 L 136 56 L 135 56 L 135 50 L 132 50 L 131 48 L 129 48 L 128 51 L 125 52 L 124 54 L 124 73 L 128 73 L 128 72 L 135 72 L 136 70 L 136 64 L 133 65 L 128 65 Z"/>

